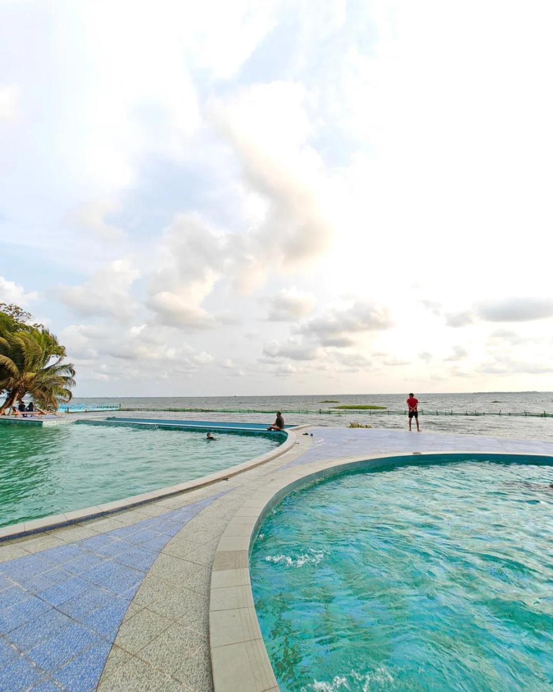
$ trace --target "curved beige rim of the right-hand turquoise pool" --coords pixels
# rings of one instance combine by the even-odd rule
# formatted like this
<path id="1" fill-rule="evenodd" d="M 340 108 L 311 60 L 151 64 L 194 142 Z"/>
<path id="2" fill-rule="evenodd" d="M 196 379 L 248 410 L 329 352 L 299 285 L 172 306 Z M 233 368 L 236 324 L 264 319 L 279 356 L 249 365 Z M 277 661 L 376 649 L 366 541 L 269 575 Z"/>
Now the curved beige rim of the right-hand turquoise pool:
<path id="1" fill-rule="evenodd" d="M 209 650 L 215 692 L 279 692 L 265 641 L 261 635 L 250 577 L 250 554 L 259 528 L 273 507 L 290 493 L 342 471 L 387 466 L 386 459 L 400 464 L 424 462 L 428 457 L 469 455 L 470 457 L 553 456 L 540 453 L 497 450 L 417 451 L 407 453 L 374 453 L 342 459 L 311 462 L 303 467 L 285 468 L 252 494 L 234 517 L 218 543 L 212 565 L 209 590 Z M 382 463 L 384 462 L 384 463 Z M 543 462 L 545 463 L 545 462 Z M 230 642 L 230 643 L 229 643 Z"/>

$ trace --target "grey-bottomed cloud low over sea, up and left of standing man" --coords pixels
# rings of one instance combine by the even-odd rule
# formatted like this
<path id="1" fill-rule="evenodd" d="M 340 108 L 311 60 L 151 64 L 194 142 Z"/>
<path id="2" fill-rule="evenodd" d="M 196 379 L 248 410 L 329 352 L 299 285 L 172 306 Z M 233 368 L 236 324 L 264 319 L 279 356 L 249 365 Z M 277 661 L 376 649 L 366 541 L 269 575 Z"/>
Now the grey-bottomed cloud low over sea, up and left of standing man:
<path id="1" fill-rule="evenodd" d="M 388 309 L 368 302 L 355 302 L 350 308 L 332 310 L 299 327 L 299 334 L 319 340 L 323 346 L 346 347 L 355 341 L 351 334 L 382 331 L 392 326 Z"/>

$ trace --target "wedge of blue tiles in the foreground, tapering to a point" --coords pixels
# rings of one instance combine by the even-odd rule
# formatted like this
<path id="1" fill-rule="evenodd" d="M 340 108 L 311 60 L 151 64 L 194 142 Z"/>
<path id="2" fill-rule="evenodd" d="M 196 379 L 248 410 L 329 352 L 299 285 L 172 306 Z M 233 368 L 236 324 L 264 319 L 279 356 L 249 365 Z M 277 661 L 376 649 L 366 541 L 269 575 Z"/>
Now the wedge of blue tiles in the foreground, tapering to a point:
<path id="1" fill-rule="evenodd" d="M 95 689 L 126 609 L 160 551 L 223 494 L 0 563 L 0 691 Z"/>

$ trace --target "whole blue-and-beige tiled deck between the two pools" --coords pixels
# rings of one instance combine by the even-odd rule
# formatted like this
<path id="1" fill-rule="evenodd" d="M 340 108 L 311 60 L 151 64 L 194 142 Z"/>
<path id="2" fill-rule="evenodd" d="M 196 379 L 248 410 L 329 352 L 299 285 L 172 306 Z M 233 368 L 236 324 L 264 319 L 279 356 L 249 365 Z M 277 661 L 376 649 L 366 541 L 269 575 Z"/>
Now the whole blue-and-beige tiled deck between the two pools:
<path id="1" fill-rule="evenodd" d="M 294 434 L 282 455 L 227 479 L 0 543 L 0 690 L 277 690 L 248 551 L 265 513 L 294 485 L 394 455 L 553 457 L 552 442 L 496 437 Z"/>

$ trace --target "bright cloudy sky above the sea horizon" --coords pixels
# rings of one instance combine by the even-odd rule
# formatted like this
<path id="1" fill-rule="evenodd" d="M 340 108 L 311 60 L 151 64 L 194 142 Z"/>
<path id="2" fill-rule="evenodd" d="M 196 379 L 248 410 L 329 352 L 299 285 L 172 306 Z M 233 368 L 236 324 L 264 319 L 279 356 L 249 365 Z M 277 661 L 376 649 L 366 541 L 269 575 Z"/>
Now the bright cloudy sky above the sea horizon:
<path id="1" fill-rule="evenodd" d="M 0 302 L 80 397 L 553 390 L 547 0 L 0 0 Z"/>

